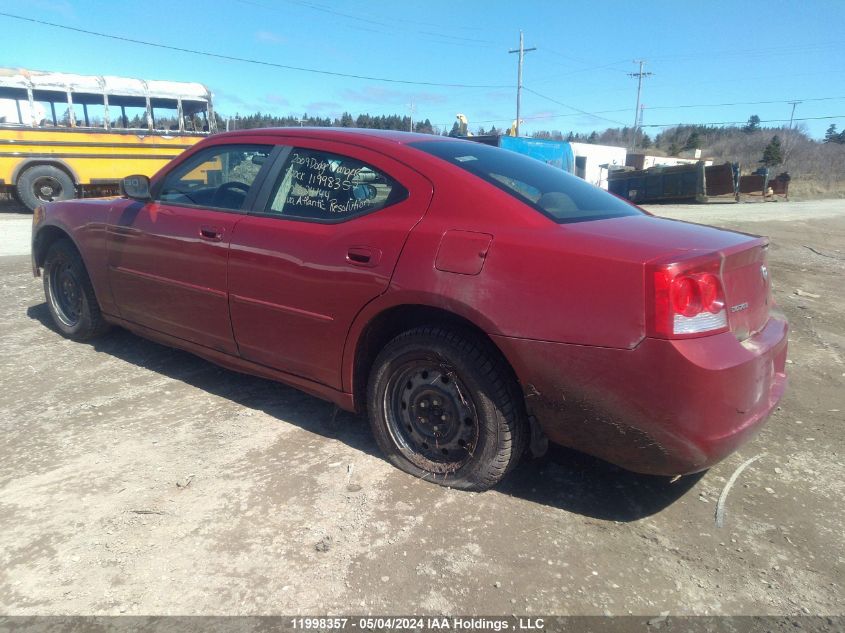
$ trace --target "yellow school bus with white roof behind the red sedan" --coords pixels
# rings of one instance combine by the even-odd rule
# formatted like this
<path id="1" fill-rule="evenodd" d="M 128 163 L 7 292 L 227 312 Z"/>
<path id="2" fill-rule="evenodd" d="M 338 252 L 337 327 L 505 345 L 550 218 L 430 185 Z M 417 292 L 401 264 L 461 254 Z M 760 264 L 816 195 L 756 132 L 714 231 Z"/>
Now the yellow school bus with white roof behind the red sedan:
<path id="1" fill-rule="evenodd" d="M 30 209 L 115 193 L 215 131 L 202 84 L 0 68 L 0 190 Z"/>

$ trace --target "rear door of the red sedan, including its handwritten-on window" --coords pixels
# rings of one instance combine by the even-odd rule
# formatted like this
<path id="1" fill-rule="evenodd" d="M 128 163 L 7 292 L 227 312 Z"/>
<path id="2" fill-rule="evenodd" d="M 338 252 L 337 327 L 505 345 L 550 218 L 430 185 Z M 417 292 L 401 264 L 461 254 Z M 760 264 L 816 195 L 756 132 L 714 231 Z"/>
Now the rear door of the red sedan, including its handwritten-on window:
<path id="1" fill-rule="evenodd" d="M 346 334 L 383 293 L 431 183 L 383 154 L 297 139 L 229 255 L 241 356 L 340 389 Z"/>

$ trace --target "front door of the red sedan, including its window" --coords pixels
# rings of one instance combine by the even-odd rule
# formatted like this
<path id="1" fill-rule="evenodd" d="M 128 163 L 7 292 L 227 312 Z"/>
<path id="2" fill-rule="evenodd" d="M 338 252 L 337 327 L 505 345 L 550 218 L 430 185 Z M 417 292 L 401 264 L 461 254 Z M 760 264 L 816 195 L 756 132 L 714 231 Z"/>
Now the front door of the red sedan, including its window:
<path id="1" fill-rule="evenodd" d="M 152 201 L 112 209 L 108 274 L 122 318 L 237 354 L 226 286 L 229 240 L 272 151 L 243 142 L 206 147 L 158 179 Z"/>

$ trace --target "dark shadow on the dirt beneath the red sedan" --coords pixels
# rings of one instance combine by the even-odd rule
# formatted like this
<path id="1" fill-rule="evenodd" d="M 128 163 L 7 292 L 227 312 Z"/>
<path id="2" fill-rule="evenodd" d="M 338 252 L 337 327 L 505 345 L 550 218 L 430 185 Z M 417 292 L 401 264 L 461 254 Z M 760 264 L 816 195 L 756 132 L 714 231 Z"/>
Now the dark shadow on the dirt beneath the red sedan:
<path id="1" fill-rule="evenodd" d="M 46 303 L 30 307 L 27 316 L 59 334 Z M 218 367 L 119 328 L 89 344 L 98 352 L 380 456 L 363 416 L 336 411 L 332 404 L 291 387 Z M 552 446 L 544 458 L 525 460 L 497 490 L 567 512 L 627 522 L 660 512 L 688 492 L 701 476 L 688 475 L 672 483 L 666 477 L 631 473 L 589 455 Z"/>

